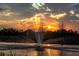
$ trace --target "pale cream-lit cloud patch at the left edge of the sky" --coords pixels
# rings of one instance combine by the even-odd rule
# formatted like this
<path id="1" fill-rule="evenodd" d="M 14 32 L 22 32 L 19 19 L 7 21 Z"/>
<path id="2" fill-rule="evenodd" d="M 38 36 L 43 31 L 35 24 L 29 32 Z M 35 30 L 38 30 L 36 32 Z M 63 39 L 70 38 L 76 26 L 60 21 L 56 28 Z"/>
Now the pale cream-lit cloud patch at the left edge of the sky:
<path id="1" fill-rule="evenodd" d="M 20 15 L 17 12 L 11 11 L 11 10 L 4 10 L 0 12 L 0 20 L 12 20 L 17 19 L 18 15 Z"/>

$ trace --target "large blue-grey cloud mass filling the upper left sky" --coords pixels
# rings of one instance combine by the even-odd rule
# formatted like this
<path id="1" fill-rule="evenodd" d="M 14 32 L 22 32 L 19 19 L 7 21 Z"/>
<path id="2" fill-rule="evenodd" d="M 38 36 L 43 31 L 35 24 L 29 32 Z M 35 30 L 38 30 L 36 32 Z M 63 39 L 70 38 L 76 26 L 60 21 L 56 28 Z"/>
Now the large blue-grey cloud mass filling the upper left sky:
<path id="1" fill-rule="evenodd" d="M 23 18 L 26 18 L 26 17 L 31 17 L 34 15 L 35 11 L 33 9 L 33 7 L 31 6 L 31 4 L 28 4 L 28 3 L 11 3 L 11 4 L 0 4 L 0 8 L 1 9 L 1 12 L 5 12 L 6 10 L 8 10 L 8 13 L 14 13 L 14 15 L 10 15 L 10 16 L 0 16 L 1 19 L 3 20 L 10 20 L 11 18 L 12 19 L 23 19 Z M 5 10 L 3 10 L 5 9 Z M 2 13 L 0 13 L 2 14 Z M 6 14 L 6 12 L 5 12 Z"/>

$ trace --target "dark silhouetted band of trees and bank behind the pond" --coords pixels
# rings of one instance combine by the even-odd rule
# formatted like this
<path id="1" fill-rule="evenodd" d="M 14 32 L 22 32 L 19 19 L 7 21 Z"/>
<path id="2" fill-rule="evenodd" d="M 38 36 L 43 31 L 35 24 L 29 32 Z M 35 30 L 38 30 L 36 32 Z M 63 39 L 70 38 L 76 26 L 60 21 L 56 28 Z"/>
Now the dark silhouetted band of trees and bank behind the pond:
<path id="1" fill-rule="evenodd" d="M 47 32 L 34 32 L 33 30 L 16 30 L 13 28 L 9 29 L 2 29 L 0 30 L 0 41 L 10 41 L 10 42 L 19 42 L 19 41 L 28 41 L 32 40 L 33 42 L 37 42 L 38 40 L 38 34 L 39 37 L 41 37 L 41 34 L 43 34 L 42 43 L 49 40 L 49 42 L 46 43 L 61 43 L 61 44 L 79 44 L 79 33 L 77 31 L 73 30 L 58 30 L 55 32 L 47 31 Z M 57 38 L 63 38 L 63 40 L 58 40 L 53 42 L 53 39 Z M 50 41 L 52 39 L 52 41 Z"/>

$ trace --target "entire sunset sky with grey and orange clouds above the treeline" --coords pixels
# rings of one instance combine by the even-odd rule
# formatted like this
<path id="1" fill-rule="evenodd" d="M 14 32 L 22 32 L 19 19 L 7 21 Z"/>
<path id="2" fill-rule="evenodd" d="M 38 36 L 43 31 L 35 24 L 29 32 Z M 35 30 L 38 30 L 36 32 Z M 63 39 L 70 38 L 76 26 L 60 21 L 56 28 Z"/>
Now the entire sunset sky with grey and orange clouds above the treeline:
<path id="1" fill-rule="evenodd" d="M 79 4 L 75 3 L 0 3 L 0 28 L 45 30 L 61 28 L 79 31 Z"/>

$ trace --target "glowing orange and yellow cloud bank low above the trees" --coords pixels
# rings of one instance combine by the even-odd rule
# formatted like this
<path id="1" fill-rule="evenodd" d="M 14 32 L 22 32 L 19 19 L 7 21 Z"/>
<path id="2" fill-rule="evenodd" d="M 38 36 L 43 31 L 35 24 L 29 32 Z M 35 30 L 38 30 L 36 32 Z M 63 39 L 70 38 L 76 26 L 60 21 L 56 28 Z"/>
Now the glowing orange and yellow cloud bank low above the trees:
<path id="1" fill-rule="evenodd" d="M 46 17 L 44 14 L 39 13 L 35 14 L 33 17 L 22 20 L 4 21 L 2 24 L 7 24 L 18 30 L 32 29 L 34 31 L 39 31 L 42 26 L 44 31 L 56 31 L 60 29 L 60 23 L 57 20 L 65 15 L 65 13 L 58 15 L 50 14 Z"/>

